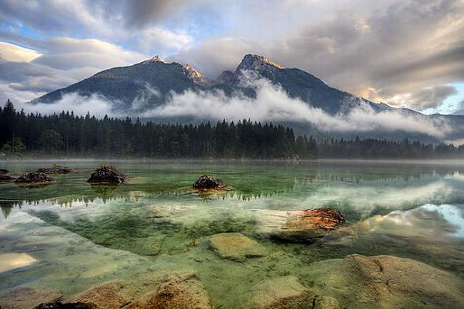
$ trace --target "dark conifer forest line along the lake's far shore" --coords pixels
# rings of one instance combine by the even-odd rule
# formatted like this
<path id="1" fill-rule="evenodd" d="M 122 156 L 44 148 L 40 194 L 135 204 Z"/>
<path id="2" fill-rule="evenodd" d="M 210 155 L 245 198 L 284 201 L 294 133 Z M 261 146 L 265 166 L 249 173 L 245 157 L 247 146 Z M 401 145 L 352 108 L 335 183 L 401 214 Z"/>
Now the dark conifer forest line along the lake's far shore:
<path id="1" fill-rule="evenodd" d="M 419 141 L 296 136 L 281 124 L 219 121 L 166 124 L 138 118 L 96 118 L 73 112 L 41 115 L 0 107 L 0 146 L 6 156 L 146 158 L 442 158 L 464 147 Z"/>

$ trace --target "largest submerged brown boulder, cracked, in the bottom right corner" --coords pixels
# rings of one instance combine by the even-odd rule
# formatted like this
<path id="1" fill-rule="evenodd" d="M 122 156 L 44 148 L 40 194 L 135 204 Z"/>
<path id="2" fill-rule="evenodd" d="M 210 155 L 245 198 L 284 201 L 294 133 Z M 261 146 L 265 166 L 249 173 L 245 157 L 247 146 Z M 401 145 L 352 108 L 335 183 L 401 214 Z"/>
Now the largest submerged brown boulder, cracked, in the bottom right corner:
<path id="1" fill-rule="evenodd" d="M 425 263 L 390 255 L 348 255 L 311 265 L 313 289 L 343 308 L 464 308 L 464 282 Z"/>

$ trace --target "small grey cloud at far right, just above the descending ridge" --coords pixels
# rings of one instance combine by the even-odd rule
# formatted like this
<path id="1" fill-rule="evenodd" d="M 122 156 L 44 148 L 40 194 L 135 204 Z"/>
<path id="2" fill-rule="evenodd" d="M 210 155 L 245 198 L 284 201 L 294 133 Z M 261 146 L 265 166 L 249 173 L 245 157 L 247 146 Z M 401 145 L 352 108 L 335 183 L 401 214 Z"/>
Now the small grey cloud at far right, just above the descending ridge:
<path id="1" fill-rule="evenodd" d="M 408 101 L 410 106 L 420 110 L 425 108 L 436 108 L 440 106 L 448 96 L 452 96 L 456 93 L 458 93 L 458 90 L 453 86 L 435 86 L 413 93 Z"/>

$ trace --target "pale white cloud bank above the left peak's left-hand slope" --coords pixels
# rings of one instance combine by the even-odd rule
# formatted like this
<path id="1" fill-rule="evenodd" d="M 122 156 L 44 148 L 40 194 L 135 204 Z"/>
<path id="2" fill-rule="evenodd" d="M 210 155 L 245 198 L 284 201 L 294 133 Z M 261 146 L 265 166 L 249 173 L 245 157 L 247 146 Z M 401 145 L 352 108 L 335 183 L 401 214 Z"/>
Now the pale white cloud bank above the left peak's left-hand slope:
<path id="1" fill-rule="evenodd" d="M 21 49 L 14 44 L 8 45 L 12 46 L 10 49 Z M 46 53 L 30 61 L 0 60 L 0 71 L 5 72 L 0 74 L 0 90 L 4 99 L 30 101 L 103 69 L 126 66 L 147 58 L 96 39 L 51 38 L 44 45 Z"/>

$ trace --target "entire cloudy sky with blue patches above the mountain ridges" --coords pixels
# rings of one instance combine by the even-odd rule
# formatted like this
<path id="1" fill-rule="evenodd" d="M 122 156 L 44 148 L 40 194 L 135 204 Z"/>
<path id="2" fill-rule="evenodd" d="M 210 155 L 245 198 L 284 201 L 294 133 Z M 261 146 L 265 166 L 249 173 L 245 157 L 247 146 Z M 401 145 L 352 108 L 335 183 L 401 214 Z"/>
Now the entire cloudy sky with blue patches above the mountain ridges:
<path id="1" fill-rule="evenodd" d="M 0 0 L 0 101 L 154 55 L 261 54 L 375 102 L 464 114 L 464 0 Z"/>

